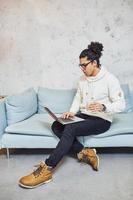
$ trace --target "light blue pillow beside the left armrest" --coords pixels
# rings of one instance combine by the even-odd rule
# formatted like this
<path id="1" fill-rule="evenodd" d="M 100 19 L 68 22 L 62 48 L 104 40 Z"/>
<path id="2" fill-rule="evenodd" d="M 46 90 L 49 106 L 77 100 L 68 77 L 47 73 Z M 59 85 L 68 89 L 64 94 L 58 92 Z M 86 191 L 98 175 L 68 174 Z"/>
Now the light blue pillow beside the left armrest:
<path id="1" fill-rule="evenodd" d="M 33 88 L 6 98 L 8 125 L 27 119 L 37 112 L 37 95 Z"/>

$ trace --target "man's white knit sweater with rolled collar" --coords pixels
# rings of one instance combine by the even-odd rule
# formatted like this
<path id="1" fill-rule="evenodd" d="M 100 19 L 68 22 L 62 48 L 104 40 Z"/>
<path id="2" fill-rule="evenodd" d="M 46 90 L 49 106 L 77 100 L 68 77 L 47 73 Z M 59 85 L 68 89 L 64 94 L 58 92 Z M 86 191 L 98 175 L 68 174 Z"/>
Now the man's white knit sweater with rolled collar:
<path id="1" fill-rule="evenodd" d="M 86 110 L 86 105 L 93 102 L 104 104 L 106 111 L 94 113 Z M 84 75 L 80 78 L 70 112 L 76 114 L 81 111 L 81 113 L 98 116 L 112 122 L 113 114 L 122 112 L 124 109 L 125 99 L 118 79 L 102 67 L 96 76 Z"/>

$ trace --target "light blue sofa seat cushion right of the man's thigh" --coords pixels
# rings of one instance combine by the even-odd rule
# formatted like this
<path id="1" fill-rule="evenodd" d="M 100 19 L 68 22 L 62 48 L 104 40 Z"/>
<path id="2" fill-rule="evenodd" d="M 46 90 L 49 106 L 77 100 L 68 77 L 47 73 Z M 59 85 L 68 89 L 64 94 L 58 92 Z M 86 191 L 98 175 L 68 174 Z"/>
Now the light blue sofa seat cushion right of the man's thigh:
<path id="1" fill-rule="evenodd" d="M 129 133 L 133 134 L 133 112 L 115 114 L 110 129 L 102 134 L 92 135 L 92 137 L 104 138 Z"/>

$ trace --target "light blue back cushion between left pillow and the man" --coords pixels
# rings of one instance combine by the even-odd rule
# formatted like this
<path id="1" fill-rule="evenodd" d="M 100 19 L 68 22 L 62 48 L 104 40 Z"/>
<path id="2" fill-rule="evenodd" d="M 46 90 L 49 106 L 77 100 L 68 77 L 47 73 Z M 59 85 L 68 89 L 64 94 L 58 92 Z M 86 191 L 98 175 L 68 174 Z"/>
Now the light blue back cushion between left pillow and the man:
<path id="1" fill-rule="evenodd" d="M 38 113 L 46 113 L 44 106 L 54 113 L 63 113 L 70 109 L 76 89 L 38 88 Z"/>

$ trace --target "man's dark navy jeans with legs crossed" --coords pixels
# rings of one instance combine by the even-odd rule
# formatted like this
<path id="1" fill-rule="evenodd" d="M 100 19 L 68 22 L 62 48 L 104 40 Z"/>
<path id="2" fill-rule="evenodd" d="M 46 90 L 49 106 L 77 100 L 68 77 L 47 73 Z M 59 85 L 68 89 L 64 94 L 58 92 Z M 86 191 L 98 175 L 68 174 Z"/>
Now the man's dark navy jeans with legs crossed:
<path id="1" fill-rule="evenodd" d="M 55 135 L 60 138 L 60 141 L 53 153 L 45 161 L 48 166 L 54 168 L 70 150 L 73 150 L 77 154 L 84 148 L 77 140 L 77 136 L 89 136 L 104 133 L 111 125 L 111 122 L 99 117 L 88 116 L 82 113 L 77 114 L 76 116 L 85 120 L 66 125 L 62 125 L 57 121 L 53 122 L 51 128 Z"/>

